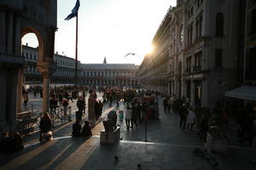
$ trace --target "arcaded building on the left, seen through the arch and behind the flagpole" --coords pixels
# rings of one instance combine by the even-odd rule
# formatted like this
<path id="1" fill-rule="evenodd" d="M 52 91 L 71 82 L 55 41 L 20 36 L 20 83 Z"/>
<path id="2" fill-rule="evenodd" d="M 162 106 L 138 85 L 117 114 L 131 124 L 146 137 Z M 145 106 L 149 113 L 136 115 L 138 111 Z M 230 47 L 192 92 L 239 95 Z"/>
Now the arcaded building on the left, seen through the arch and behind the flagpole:
<path id="1" fill-rule="evenodd" d="M 42 77 L 37 69 L 38 48 L 22 45 L 22 56 L 26 60 L 24 69 L 24 82 L 36 84 L 42 82 Z M 55 72 L 49 77 L 50 84 L 74 84 L 75 82 L 75 59 L 55 53 Z M 78 77 L 80 77 L 81 64 L 78 61 Z M 79 78 L 80 80 L 80 78 Z"/>

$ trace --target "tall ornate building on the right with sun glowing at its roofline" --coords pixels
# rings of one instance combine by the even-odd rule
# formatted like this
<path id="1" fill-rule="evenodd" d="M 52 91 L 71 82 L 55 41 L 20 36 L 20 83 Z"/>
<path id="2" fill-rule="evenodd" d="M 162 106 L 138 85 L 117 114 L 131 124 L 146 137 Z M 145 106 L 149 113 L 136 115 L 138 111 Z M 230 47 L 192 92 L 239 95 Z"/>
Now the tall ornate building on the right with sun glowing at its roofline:
<path id="1" fill-rule="evenodd" d="M 240 0 L 178 0 L 140 66 L 140 83 L 212 110 L 238 84 L 241 11 Z"/>

